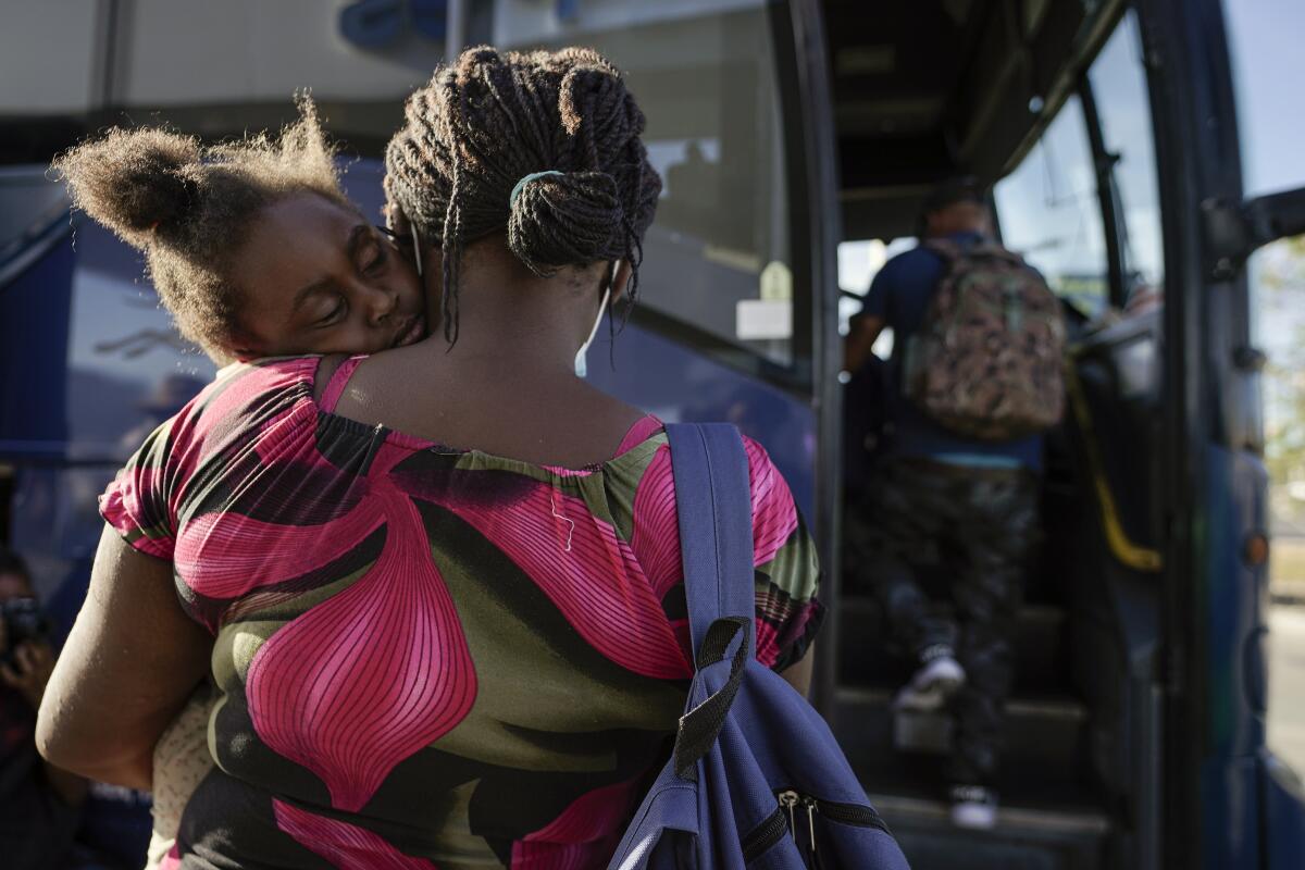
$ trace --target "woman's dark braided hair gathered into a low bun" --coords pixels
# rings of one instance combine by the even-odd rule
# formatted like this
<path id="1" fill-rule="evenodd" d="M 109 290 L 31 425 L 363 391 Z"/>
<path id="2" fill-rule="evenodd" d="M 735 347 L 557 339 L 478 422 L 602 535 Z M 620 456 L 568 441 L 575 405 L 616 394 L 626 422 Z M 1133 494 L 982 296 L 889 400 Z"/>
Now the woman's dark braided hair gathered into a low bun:
<path id="1" fill-rule="evenodd" d="M 504 228 L 540 277 L 626 260 L 634 297 L 662 190 L 642 132 L 620 72 L 591 48 L 468 48 L 408 98 L 385 154 L 385 192 L 442 247 L 448 340 L 458 333 L 462 249 Z"/>

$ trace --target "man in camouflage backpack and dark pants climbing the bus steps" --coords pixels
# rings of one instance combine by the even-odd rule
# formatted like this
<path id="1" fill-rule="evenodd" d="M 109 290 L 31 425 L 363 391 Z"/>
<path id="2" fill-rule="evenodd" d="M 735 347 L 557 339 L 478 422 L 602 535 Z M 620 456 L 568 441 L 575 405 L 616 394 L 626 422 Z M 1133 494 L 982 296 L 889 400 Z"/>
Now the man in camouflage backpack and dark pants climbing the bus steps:
<path id="1" fill-rule="evenodd" d="M 993 240 L 983 187 L 960 177 L 927 197 L 920 245 L 874 277 L 847 337 L 848 372 L 883 329 L 891 438 L 850 511 L 850 571 L 912 659 L 894 707 L 955 720 L 953 822 L 988 828 L 1013 621 L 1041 533 L 1043 432 L 1060 416 L 1062 314 L 1041 275 Z M 954 616 L 921 586 L 940 563 Z"/>

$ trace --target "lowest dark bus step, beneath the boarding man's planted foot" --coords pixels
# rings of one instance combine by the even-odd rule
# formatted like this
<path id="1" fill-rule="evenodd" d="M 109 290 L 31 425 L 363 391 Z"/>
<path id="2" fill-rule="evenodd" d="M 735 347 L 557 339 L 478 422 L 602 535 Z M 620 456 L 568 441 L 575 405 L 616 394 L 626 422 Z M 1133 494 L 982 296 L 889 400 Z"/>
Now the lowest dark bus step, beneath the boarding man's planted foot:
<path id="1" fill-rule="evenodd" d="M 897 836 L 912 870 L 1099 870 L 1105 866 L 1109 819 L 1092 806 L 1002 803 L 997 826 L 951 824 L 950 803 L 927 793 L 882 793 L 870 803 Z"/>

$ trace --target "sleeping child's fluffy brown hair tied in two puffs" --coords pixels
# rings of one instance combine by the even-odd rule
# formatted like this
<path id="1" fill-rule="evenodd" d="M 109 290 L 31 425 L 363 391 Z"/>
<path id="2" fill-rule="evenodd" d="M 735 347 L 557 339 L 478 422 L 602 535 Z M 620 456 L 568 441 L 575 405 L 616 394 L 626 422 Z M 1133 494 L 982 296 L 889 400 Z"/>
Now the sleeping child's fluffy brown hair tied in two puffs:
<path id="1" fill-rule="evenodd" d="M 202 146 L 159 128 L 115 128 L 52 166 L 73 205 L 145 252 L 149 277 L 177 327 L 210 355 L 240 342 L 239 288 L 228 266 L 254 215 L 295 193 L 350 209 L 333 147 L 307 97 L 277 140 Z"/>

